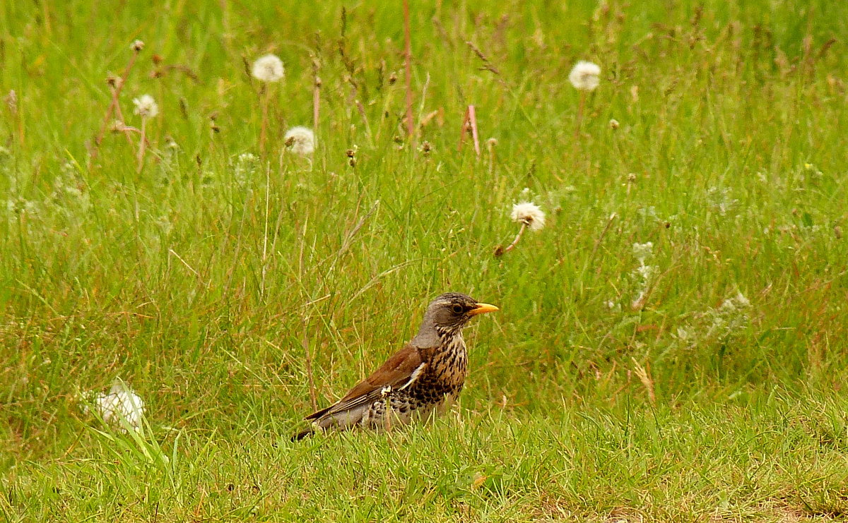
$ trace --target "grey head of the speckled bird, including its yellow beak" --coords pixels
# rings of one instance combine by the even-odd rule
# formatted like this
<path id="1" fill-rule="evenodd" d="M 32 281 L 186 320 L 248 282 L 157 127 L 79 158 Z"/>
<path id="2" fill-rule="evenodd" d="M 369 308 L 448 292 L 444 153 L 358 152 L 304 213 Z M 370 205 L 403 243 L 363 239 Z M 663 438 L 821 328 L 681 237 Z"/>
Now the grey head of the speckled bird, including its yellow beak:
<path id="1" fill-rule="evenodd" d="M 433 346 L 439 336 L 454 336 L 464 328 L 477 314 L 497 311 L 498 307 L 480 303 L 471 296 L 456 292 L 438 296 L 427 306 L 421 329 L 414 342 L 418 346 Z"/>

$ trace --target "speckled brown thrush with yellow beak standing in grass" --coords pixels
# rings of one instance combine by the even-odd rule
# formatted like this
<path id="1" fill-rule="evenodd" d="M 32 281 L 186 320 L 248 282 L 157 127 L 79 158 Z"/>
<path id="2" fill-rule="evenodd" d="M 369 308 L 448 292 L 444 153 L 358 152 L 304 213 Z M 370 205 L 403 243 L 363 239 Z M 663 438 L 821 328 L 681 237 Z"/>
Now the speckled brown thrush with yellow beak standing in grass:
<path id="1" fill-rule="evenodd" d="M 376 430 L 442 414 L 460 394 L 468 374 L 462 329 L 478 314 L 499 308 L 470 296 L 449 292 L 427 306 L 418 334 L 376 372 L 336 403 L 306 416 L 310 428 L 292 436 L 298 441 L 315 432 L 365 427 Z"/>

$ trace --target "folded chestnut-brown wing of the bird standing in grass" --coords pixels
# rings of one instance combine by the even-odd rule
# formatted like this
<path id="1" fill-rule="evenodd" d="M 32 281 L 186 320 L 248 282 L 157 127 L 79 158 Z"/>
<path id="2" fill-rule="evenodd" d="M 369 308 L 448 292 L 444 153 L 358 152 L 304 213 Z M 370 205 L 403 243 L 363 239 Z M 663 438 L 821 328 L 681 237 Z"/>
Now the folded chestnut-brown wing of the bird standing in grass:
<path id="1" fill-rule="evenodd" d="M 372 402 L 383 394 L 383 388 L 398 389 L 408 387 L 427 366 L 421 357 L 421 351 L 411 345 L 394 353 L 382 366 L 348 391 L 337 403 L 326 409 L 306 416 L 307 420 L 317 420 L 328 414 L 353 409 L 366 402 Z"/>

